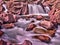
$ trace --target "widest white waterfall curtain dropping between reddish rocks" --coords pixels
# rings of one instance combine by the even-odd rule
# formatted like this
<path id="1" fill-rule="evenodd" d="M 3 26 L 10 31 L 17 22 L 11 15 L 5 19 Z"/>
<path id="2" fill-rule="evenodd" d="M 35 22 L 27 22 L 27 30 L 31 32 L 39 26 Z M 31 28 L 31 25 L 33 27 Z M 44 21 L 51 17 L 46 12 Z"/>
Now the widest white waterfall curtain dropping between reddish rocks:
<path id="1" fill-rule="evenodd" d="M 29 14 L 40 14 L 40 13 L 45 14 L 46 13 L 41 5 L 28 4 L 28 8 L 29 8 Z"/>

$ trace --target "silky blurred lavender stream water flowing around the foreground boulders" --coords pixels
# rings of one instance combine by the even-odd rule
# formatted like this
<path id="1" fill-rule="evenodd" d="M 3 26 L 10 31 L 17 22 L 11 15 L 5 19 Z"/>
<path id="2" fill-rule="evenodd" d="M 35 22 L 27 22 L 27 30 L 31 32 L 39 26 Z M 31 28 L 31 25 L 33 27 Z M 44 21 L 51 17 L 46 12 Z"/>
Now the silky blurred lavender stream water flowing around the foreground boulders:
<path id="1" fill-rule="evenodd" d="M 2 36 L 2 39 L 5 41 L 15 41 L 20 44 L 23 43 L 24 40 L 29 40 L 33 43 L 33 45 L 60 45 L 60 26 L 58 26 L 58 29 L 56 30 L 55 37 L 51 38 L 51 43 L 48 44 L 32 38 L 31 34 L 34 33 L 24 30 L 29 23 L 30 21 L 19 19 L 18 22 L 15 23 L 14 28 L 2 29 L 2 31 L 5 32 L 5 34 Z"/>

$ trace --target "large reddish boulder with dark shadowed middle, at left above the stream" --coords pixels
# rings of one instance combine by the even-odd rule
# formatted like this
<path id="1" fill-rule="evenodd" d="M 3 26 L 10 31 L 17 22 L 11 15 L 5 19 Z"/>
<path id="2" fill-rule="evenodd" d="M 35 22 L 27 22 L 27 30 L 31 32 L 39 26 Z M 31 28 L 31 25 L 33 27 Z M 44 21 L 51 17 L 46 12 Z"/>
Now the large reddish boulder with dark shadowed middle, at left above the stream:
<path id="1" fill-rule="evenodd" d="M 2 14 L 3 22 L 14 23 L 17 21 L 17 16 L 13 14 Z"/>

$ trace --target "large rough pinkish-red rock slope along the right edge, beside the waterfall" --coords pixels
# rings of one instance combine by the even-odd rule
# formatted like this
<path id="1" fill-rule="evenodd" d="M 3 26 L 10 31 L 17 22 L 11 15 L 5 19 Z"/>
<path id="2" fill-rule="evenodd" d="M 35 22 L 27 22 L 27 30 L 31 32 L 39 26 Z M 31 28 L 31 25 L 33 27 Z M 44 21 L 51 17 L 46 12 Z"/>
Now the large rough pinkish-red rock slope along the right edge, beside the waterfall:
<path id="1" fill-rule="evenodd" d="M 50 20 L 54 23 L 60 24 L 60 3 L 57 2 L 49 12 Z"/>

